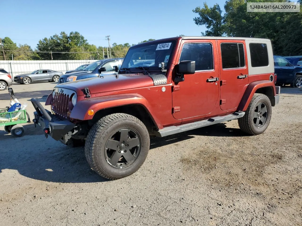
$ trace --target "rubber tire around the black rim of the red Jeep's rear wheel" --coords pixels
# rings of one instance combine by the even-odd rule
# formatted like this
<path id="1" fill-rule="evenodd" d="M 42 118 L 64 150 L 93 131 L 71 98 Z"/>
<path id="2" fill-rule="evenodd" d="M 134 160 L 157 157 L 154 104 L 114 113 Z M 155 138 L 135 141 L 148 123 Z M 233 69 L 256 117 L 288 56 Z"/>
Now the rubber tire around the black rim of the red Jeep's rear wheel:
<path id="1" fill-rule="evenodd" d="M 258 113 L 257 106 L 259 106 L 262 103 L 266 106 L 267 109 L 266 120 L 261 127 L 257 127 L 255 124 L 257 118 L 255 119 L 254 116 L 255 114 L 257 115 Z M 271 101 L 269 100 L 268 96 L 262 93 L 255 93 L 251 102 L 249 103 L 248 108 L 246 109 L 245 115 L 242 118 L 238 119 L 238 124 L 243 132 L 251 135 L 258 135 L 263 133 L 267 129 L 270 121 L 271 121 Z"/>

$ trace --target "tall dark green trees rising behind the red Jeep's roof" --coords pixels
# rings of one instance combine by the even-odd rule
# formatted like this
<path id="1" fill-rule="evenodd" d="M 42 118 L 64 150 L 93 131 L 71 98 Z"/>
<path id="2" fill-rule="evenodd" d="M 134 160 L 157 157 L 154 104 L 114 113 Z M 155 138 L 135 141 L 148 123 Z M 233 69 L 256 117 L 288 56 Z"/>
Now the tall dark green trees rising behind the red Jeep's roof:
<path id="1" fill-rule="evenodd" d="M 246 0 L 227 0 L 225 14 L 218 4 L 209 8 L 196 7 L 197 25 L 206 25 L 206 36 L 255 37 L 271 39 L 275 55 L 302 55 L 302 12 L 246 12 Z M 248 0 L 248 2 L 271 2 L 271 0 Z M 275 0 L 274 2 L 288 2 Z M 300 8 L 302 8 L 300 3 Z"/>

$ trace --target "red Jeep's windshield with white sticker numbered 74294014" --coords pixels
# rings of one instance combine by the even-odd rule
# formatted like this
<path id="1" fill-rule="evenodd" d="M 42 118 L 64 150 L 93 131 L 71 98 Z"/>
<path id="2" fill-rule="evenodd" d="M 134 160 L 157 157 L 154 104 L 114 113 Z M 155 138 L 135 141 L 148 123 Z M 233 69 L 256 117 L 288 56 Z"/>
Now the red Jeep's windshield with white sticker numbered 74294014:
<path id="1" fill-rule="evenodd" d="M 175 41 L 171 40 L 130 48 L 121 68 L 147 67 L 149 71 L 158 70 L 158 65 L 163 62 L 166 69 L 174 46 Z"/>

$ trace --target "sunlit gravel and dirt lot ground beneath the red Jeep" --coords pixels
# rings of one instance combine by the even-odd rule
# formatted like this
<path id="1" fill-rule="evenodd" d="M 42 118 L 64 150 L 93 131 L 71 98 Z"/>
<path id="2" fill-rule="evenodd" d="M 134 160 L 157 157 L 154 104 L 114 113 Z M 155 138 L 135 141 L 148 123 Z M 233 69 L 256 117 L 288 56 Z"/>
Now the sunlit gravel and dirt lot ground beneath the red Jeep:
<path id="1" fill-rule="evenodd" d="M 29 99 L 54 85 L 12 87 L 32 116 Z M 152 139 L 140 170 L 115 181 L 32 124 L 21 138 L 0 127 L 0 225 L 302 225 L 302 89 L 281 92 L 265 133 L 230 121 Z"/>

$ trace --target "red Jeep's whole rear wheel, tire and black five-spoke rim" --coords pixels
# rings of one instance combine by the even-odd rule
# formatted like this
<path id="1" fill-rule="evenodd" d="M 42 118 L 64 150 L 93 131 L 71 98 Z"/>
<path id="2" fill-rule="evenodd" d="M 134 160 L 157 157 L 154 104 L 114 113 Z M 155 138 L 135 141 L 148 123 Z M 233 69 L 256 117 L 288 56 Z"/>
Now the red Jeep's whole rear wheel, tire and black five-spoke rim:
<path id="1" fill-rule="evenodd" d="M 263 133 L 271 121 L 271 101 L 262 93 L 255 93 L 245 115 L 238 119 L 240 129 L 251 135 Z"/>

